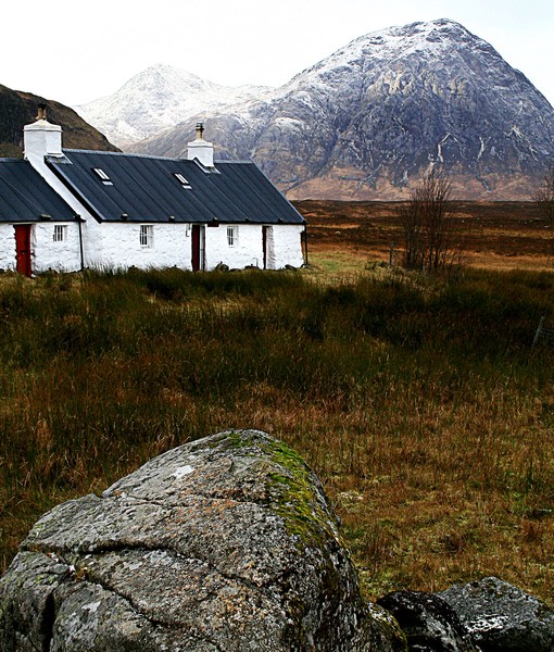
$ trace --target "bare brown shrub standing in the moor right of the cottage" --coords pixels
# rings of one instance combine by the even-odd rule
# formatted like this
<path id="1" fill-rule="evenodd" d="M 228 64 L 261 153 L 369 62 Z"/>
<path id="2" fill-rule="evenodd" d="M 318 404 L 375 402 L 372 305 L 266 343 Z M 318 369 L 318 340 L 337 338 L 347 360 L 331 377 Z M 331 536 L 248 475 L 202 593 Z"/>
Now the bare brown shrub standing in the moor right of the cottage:
<path id="1" fill-rule="evenodd" d="M 431 172 L 400 209 L 405 244 L 404 266 L 438 274 L 459 262 L 459 248 L 452 239 L 451 188 L 449 178 Z"/>

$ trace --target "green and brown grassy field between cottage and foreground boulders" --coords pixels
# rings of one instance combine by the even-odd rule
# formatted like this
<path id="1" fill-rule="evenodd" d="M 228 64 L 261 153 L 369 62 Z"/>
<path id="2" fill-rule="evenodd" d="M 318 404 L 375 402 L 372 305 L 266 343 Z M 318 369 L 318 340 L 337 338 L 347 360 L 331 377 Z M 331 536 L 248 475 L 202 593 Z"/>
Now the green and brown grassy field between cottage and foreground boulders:
<path id="1" fill-rule="evenodd" d="M 253 427 L 319 474 L 367 595 L 492 574 L 553 602 L 554 275 L 368 267 L 2 275 L 2 568 L 60 501 Z"/>

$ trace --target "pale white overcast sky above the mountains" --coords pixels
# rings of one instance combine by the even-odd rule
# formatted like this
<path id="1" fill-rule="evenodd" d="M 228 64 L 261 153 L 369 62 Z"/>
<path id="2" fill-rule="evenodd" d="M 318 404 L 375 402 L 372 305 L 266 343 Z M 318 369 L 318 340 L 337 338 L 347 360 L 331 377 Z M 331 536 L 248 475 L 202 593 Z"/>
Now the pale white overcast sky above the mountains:
<path id="1" fill-rule="evenodd" d="M 452 18 L 554 104 L 553 0 L 12 0 L 0 84 L 76 105 L 165 63 L 228 85 L 280 86 L 352 39 Z"/>

